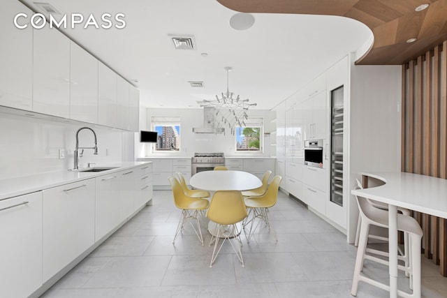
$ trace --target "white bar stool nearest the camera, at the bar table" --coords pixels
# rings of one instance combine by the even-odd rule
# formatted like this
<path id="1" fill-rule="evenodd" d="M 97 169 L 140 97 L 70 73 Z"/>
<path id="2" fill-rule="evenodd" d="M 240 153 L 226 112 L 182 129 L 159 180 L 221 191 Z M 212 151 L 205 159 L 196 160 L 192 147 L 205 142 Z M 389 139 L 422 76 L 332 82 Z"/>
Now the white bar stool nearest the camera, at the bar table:
<path id="1" fill-rule="evenodd" d="M 383 290 L 390 290 L 389 285 L 374 281 L 361 274 L 363 268 L 363 261 L 365 259 L 379 262 L 383 265 L 388 265 L 387 260 L 377 258 L 374 255 L 367 254 L 367 241 L 369 234 L 369 226 L 376 225 L 382 228 L 388 228 L 388 211 L 373 207 L 367 202 L 366 198 L 356 196 L 358 209 L 361 216 L 360 237 L 358 241 L 358 250 L 356 258 L 356 267 L 354 269 L 353 283 L 351 288 L 351 295 L 356 296 L 358 290 L 358 282 L 364 281 Z M 398 290 L 397 294 L 400 297 L 420 297 L 420 240 L 422 239 L 423 231 L 418 222 L 411 216 L 404 214 L 397 214 L 397 230 L 406 232 L 408 234 L 409 262 L 406 265 L 399 265 L 400 270 L 405 271 L 410 276 L 410 288 L 413 290 L 412 294 Z M 392 252 L 390 252 L 392 253 Z M 397 253 L 397 251 L 395 251 Z M 381 255 L 388 255 L 383 252 Z"/>

